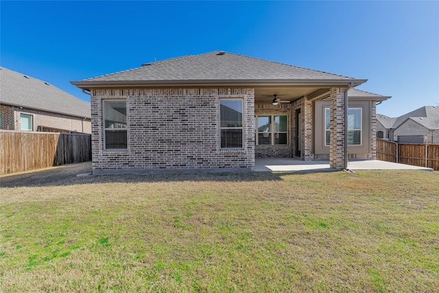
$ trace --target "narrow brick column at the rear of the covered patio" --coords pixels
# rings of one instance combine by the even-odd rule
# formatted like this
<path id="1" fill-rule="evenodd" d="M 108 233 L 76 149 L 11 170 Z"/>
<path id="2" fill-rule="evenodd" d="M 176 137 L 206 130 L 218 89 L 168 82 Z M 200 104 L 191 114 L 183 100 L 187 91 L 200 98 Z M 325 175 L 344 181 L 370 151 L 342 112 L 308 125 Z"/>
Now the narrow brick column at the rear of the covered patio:
<path id="1" fill-rule="evenodd" d="M 304 161 L 314 159 L 313 154 L 313 102 L 304 97 L 305 101 L 302 108 L 302 151 L 300 157 Z"/>

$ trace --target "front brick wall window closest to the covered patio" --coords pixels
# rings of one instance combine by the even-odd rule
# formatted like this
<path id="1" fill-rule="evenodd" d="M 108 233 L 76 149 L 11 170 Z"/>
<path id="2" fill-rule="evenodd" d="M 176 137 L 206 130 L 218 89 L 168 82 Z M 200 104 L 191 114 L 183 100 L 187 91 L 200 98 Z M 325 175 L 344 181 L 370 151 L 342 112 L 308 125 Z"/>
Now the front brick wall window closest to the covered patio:
<path id="1" fill-rule="evenodd" d="M 221 148 L 243 148 L 242 99 L 219 100 Z"/>

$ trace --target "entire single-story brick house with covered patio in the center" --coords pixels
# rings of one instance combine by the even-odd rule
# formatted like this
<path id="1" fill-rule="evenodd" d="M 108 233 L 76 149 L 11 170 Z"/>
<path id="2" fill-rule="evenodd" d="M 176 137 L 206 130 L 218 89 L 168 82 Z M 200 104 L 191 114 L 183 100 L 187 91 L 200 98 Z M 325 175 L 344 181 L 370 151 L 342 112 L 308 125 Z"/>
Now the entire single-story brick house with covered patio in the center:
<path id="1" fill-rule="evenodd" d="M 224 51 L 71 82 L 91 94 L 93 173 L 254 168 L 255 158 L 375 159 L 366 80 Z M 344 145 L 348 143 L 348 154 Z"/>

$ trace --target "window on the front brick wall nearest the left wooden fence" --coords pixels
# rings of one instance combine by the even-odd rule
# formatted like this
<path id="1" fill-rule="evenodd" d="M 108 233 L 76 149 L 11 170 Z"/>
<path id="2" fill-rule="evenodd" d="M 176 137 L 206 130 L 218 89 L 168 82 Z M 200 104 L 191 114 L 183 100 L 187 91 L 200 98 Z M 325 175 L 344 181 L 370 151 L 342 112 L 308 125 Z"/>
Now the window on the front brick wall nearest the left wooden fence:
<path id="1" fill-rule="evenodd" d="M 105 150 L 126 150 L 126 100 L 104 100 Z"/>

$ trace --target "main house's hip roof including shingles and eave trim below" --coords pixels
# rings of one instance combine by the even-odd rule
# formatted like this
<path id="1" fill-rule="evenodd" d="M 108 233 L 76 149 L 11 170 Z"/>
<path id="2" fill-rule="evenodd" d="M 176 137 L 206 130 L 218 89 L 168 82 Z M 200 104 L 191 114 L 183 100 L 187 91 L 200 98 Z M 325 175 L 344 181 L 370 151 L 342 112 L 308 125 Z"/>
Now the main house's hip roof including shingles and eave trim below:
<path id="1" fill-rule="evenodd" d="M 142 67 L 71 82 L 81 88 L 114 84 L 362 84 L 348 76 L 212 51 L 143 64 Z"/>

